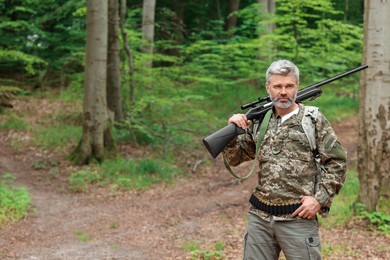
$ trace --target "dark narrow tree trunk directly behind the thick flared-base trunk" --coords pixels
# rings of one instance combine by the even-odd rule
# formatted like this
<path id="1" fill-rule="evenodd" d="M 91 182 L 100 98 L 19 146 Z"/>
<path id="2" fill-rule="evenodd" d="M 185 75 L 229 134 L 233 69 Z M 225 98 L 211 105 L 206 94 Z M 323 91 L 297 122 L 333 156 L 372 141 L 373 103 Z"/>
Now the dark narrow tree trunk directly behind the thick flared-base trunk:
<path id="1" fill-rule="evenodd" d="M 123 119 L 118 0 L 108 1 L 107 105 L 115 121 Z"/>

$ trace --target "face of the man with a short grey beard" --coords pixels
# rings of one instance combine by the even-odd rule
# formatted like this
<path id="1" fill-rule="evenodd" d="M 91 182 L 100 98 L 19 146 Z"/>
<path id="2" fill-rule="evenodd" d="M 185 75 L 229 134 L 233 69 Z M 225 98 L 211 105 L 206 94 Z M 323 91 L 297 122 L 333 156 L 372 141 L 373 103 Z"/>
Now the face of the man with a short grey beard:
<path id="1" fill-rule="evenodd" d="M 291 75 L 272 75 L 266 83 L 266 89 L 276 107 L 289 108 L 297 98 L 298 82 Z"/>

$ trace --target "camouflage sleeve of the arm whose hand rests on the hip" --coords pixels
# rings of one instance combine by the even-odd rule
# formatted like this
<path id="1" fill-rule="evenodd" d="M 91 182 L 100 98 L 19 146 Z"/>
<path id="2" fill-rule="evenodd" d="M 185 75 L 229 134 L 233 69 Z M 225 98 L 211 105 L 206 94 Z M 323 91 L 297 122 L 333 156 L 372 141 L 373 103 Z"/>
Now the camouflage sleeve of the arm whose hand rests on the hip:
<path id="1" fill-rule="evenodd" d="M 324 171 L 314 195 L 323 207 L 330 208 L 332 200 L 344 185 L 347 171 L 347 153 L 340 144 L 329 121 L 322 113 L 317 120 L 317 144 Z"/>

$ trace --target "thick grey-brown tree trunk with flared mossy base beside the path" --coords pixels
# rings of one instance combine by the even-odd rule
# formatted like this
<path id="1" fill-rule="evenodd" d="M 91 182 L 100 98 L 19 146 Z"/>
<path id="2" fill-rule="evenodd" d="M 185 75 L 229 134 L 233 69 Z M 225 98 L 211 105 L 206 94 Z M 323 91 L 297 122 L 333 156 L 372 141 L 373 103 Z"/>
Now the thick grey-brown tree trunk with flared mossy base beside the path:
<path id="1" fill-rule="evenodd" d="M 105 148 L 113 147 L 106 99 L 107 10 L 106 0 L 87 1 L 83 136 L 72 154 L 72 159 L 82 164 L 92 159 L 103 161 Z"/>

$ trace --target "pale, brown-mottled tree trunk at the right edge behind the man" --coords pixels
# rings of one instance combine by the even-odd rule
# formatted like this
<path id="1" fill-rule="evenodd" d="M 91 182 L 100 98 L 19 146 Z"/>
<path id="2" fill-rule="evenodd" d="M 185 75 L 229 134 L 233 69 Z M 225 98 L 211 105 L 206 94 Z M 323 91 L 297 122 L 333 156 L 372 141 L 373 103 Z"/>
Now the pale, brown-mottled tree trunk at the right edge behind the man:
<path id="1" fill-rule="evenodd" d="M 363 62 L 359 110 L 358 201 L 376 209 L 389 189 L 390 172 L 390 2 L 365 2 Z"/>

